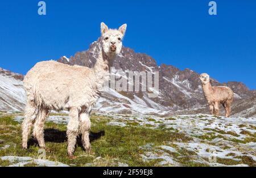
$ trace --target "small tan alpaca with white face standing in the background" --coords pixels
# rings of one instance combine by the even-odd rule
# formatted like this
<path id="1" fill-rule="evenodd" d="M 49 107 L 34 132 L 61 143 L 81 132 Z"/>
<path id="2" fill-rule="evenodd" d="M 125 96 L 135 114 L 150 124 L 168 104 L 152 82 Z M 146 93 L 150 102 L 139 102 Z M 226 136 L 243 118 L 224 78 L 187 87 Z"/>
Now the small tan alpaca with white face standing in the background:
<path id="1" fill-rule="evenodd" d="M 231 104 L 233 102 L 233 91 L 229 87 L 212 87 L 208 74 L 201 74 L 200 80 L 203 86 L 205 99 L 208 101 L 210 113 L 219 115 L 219 105 L 222 104 L 226 110 L 226 117 L 230 116 Z"/>

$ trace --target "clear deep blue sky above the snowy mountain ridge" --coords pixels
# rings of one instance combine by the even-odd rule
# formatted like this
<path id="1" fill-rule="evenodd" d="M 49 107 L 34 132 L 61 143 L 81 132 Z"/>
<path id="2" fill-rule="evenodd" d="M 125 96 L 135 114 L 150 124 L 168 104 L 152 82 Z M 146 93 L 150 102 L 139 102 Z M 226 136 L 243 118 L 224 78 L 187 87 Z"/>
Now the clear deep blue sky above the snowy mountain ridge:
<path id="1" fill-rule="evenodd" d="M 220 82 L 241 81 L 256 89 L 256 1 L 1 1 L 0 67 L 26 74 L 42 60 L 57 60 L 88 49 L 100 23 L 127 23 L 123 44 L 147 53 L 160 65 L 208 73 Z"/>

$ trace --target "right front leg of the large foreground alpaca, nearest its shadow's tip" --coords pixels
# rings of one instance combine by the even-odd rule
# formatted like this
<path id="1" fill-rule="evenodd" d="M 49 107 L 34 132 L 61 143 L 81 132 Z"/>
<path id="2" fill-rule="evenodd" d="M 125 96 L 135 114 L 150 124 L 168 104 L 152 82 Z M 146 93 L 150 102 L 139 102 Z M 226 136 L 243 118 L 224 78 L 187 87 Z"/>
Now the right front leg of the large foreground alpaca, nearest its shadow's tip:
<path id="1" fill-rule="evenodd" d="M 89 112 L 90 113 L 90 112 Z M 90 151 L 90 115 L 89 113 L 81 113 L 80 114 L 80 132 L 82 133 L 82 146 L 86 151 Z"/>

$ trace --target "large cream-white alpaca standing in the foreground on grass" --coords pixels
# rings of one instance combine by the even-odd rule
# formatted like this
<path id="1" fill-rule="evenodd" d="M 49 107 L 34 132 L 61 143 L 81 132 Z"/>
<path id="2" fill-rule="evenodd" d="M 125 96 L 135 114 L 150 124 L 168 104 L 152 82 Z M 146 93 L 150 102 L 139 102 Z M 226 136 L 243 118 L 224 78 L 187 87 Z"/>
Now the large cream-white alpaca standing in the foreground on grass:
<path id="1" fill-rule="evenodd" d="M 24 78 L 27 105 L 22 123 L 22 147 L 27 149 L 28 135 L 33 135 L 45 148 L 44 123 L 50 110 L 68 109 L 68 155 L 73 158 L 76 138 L 82 134 L 82 145 L 90 151 L 90 112 L 99 98 L 102 85 L 109 79 L 110 65 L 122 49 L 126 24 L 118 30 L 101 23 L 100 54 L 94 68 L 69 66 L 56 61 L 43 61 L 28 71 Z"/>

